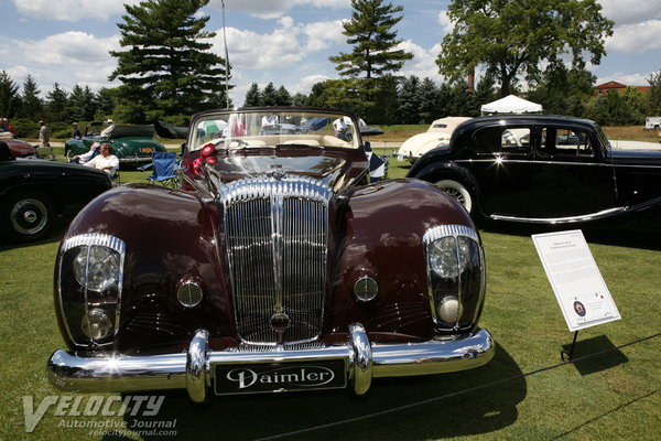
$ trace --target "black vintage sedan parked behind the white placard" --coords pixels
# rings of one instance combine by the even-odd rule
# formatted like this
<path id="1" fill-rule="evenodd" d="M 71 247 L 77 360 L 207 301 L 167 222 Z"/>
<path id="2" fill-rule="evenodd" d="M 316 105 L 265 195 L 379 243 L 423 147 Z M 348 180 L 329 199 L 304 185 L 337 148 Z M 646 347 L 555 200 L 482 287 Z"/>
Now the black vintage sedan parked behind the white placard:
<path id="1" fill-rule="evenodd" d="M 492 220 L 603 223 L 661 206 L 661 151 L 613 150 L 585 119 L 475 118 L 408 176 L 435 183 L 474 217 Z"/>

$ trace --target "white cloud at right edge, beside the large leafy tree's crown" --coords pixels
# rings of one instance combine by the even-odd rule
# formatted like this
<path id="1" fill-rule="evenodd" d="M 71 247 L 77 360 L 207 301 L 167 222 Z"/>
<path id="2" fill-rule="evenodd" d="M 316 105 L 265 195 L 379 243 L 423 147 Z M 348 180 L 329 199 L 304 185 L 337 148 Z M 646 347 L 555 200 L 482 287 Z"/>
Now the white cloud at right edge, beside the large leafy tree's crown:
<path id="1" fill-rule="evenodd" d="M 661 50 L 661 20 L 648 20 L 636 24 L 625 24 L 614 30 L 606 40 L 607 51 L 642 54 L 646 51 Z"/>

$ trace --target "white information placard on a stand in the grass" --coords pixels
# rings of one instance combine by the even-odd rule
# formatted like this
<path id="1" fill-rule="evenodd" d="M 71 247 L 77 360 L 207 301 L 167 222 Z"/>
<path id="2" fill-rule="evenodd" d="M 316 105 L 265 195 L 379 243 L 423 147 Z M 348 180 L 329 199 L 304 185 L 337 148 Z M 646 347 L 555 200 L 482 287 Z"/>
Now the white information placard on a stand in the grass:
<path id="1" fill-rule="evenodd" d="M 620 319 L 583 232 L 532 235 L 532 241 L 570 331 Z"/>

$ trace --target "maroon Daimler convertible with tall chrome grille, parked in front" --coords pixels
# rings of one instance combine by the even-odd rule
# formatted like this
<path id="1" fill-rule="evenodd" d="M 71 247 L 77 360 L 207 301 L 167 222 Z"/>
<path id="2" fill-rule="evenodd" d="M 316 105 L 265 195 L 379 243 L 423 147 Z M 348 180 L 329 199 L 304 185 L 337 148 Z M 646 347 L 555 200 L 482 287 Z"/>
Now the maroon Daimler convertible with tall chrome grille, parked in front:
<path id="1" fill-rule="evenodd" d="M 418 180 L 369 182 L 347 114 L 195 115 L 180 190 L 120 186 L 73 220 L 55 267 L 68 349 L 53 385 L 212 395 L 349 387 L 475 368 L 480 238 Z"/>

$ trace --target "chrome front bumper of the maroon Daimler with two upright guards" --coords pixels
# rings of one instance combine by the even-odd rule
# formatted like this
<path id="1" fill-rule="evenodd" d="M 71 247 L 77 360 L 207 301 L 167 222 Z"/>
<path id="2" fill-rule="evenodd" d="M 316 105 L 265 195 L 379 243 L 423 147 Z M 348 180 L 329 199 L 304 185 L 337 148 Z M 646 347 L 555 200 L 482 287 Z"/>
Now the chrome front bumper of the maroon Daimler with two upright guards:
<path id="1" fill-rule="evenodd" d="M 199 330 L 188 351 L 177 354 L 124 356 L 77 355 L 55 351 L 47 376 L 53 386 L 79 392 L 186 389 L 203 402 L 213 386 L 213 366 L 289 362 L 345 361 L 356 395 L 366 394 L 372 378 L 443 374 L 487 364 L 495 353 L 491 335 L 480 330 L 465 338 L 410 344 L 371 344 L 361 324 L 349 326 L 346 345 L 300 351 L 210 351 L 209 334 Z"/>

